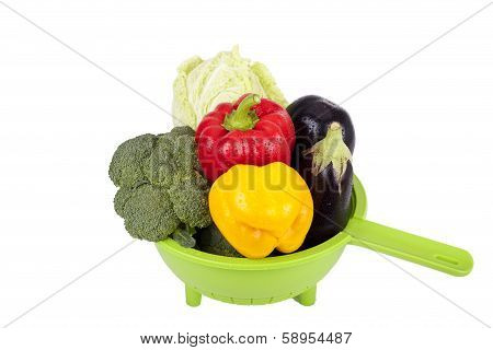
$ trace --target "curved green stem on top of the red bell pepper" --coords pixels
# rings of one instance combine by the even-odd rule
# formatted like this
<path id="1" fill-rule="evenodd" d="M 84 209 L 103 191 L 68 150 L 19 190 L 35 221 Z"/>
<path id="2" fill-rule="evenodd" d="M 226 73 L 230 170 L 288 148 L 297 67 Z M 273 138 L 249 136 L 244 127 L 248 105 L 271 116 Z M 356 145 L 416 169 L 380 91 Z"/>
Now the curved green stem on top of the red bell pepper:
<path id="1" fill-rule="evenodd" d="M 238 108 L 226 116 L 222 127 L 228 131 L 253 129 L 260 119 L 251 108 L 260 104 L 260 102 L 261 97 L 256 94 L 250 94 L 244 97 L 238 105 Z"/>

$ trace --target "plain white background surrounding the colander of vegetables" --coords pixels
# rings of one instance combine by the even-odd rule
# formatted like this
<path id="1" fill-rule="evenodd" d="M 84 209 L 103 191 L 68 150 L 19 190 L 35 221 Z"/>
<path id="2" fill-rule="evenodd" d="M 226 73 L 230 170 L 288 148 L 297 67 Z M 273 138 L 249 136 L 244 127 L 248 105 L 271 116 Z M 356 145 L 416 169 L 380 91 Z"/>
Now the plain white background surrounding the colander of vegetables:
<path id="1" fill-rule="evenodd" d="M 180 62 L 233 44 L 267 65 L 288 100 L 341 102 L 486 4 L 5 3 L 164 109 Z M 492 35 L 493 5 L 344 104 L 368 218 L 470 250 L 470 276 L 391 259 L 414 279 L 349 246 L 320 282 L 316 306 L 204 299 L 191 308 L 153 245 L 136 242 L 0 330 L 0 348 L 160 348 L 139 335 L 176 331 L 353 331 L 339 348 L 492 349 L 491 328 L 465 312 L 493 324 Z M 130 242 L 113 212 L 108 162 L 123 140 L 170 126 L 165 113 L 0 2 L 0 325 Z"/>

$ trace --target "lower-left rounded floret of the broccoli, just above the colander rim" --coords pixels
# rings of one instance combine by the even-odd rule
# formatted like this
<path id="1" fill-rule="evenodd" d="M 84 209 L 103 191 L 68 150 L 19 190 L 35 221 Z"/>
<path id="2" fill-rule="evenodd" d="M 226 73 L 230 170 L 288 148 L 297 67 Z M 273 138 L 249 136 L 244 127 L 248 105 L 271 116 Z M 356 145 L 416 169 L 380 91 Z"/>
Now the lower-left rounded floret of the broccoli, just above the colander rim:
<path id="1" fill-rule="evenodd" d="M 179 228 L 180 219 L 164 188 L 142 184 L 125 196 L 121 212 L 125 228 L 134 238 L 162 241 Z"/>

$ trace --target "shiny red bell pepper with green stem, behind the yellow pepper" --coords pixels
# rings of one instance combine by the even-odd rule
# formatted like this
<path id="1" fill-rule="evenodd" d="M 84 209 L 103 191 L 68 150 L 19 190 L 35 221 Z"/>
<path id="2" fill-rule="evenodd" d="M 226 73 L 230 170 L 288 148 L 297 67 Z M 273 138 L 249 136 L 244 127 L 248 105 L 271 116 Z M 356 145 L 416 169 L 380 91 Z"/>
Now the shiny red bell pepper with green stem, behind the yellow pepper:
<path id="1" fill-rule="evenodd" d="M 198 161 L 214 182 L 234 164 L 290 164 L 295 127 L 277 103 L 245 94 L 234 104 L 221 103 L 207 114 L 195 132 Z"/>

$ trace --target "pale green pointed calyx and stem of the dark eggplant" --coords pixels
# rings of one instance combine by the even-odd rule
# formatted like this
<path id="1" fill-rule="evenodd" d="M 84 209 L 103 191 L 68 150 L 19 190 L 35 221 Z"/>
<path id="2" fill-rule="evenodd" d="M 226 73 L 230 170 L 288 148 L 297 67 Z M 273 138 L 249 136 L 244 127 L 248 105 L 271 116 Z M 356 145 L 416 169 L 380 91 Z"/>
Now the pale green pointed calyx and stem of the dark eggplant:
<path id="1" fill-rule="evenodd" d="M 332 122 L 329 126 L 325 138 L 303 152 L 303 155 L 313 154 L 311 172 L 316 176 L 332 163 L 340 192 L 347 162 L 352 161 L 351 151 L 344 143 L 342 132 L 341 125 L 336 121 Z"/>

